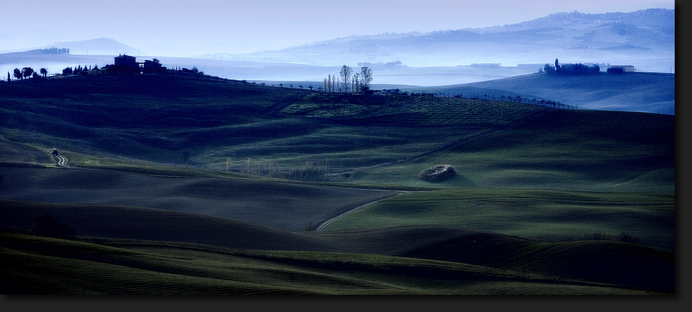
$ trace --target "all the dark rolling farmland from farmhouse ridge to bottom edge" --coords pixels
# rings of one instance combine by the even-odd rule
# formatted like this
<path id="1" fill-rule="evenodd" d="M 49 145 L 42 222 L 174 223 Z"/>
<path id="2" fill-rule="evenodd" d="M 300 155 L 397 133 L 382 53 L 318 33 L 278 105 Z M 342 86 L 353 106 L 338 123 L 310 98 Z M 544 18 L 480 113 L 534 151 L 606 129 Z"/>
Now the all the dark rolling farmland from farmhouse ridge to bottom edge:
<path id="1" fill-rule="evenodd" d="M 0 85 L 3 293 L 676 293 L 674 116 L 102 78 Z"/>

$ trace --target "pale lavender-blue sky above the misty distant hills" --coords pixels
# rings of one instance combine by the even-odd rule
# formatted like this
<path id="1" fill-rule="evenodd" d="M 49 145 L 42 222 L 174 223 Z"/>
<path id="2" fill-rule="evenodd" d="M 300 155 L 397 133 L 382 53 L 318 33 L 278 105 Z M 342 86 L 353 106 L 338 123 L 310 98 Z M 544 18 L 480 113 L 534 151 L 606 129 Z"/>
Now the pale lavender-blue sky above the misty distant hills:
<path id="1" fill-rule="evenodd" d="M 679 1 L 678 1 L 679 2 Z M 107 37 L 148 55 L 249 53 L 350 35 L 483 28 L 556 12 L 675 8 L 657 0 L 13 0 L 0 51 Z"/>

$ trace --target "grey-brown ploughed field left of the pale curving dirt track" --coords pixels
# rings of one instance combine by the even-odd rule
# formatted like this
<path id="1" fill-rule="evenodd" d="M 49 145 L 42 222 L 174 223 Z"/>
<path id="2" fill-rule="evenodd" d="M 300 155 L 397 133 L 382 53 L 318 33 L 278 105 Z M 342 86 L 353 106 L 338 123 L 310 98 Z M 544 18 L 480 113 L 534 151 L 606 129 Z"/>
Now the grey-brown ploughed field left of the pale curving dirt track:
<path id="1" fill-rule="evenodd" d="M 397 194 L 232 178 L 172 178 L 87 169 L 0 166 L 0 198 L 158 208 L 302 230 L 307 223 Z"/>

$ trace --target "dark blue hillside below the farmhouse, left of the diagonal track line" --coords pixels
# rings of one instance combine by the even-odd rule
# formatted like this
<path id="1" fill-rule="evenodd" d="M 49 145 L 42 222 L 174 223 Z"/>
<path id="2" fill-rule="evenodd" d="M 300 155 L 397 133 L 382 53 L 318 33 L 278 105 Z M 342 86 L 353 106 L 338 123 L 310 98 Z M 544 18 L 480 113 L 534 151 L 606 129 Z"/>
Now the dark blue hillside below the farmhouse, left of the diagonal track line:
<path id="1" fill-rule="evenodd" d="M 225 169 L 231 158 L 233 171 L 246 169 L 248 158 L 255 170 L 392 163 L 541 110 L 474 100 L 326 97 L 186 77 L 75 78 L 3 84 L 0 91 L 6 116 L 0 129 L 10 140 L 212 169 Z"/>

